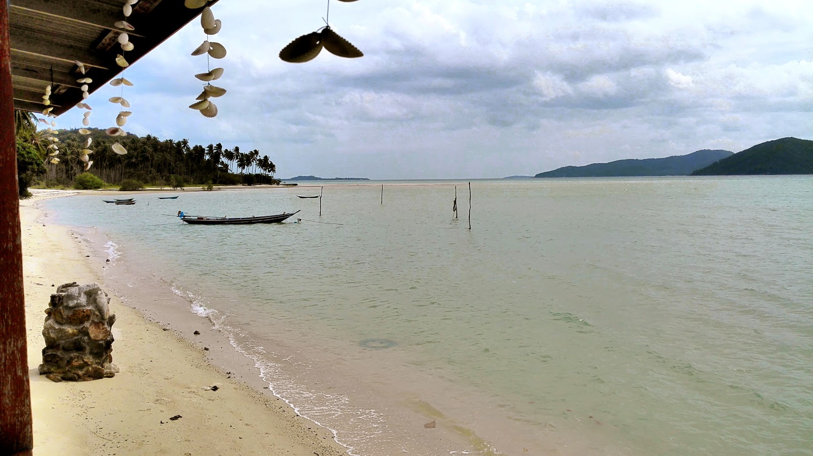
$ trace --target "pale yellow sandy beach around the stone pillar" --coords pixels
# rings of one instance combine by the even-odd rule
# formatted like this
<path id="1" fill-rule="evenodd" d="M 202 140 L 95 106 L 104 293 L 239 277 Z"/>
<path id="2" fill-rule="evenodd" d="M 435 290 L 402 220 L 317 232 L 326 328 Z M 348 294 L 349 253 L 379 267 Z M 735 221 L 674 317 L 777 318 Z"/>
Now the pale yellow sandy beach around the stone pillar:
<path id="1" fill-rule="evenodd" d="M 62 195 L 41 191 L 20 202 L 34 454 L 346 454 L 327 429 L 215 368 L 206 342 L 181 337 L 108 289 L 120 372 L 88 382 L 40 376 L 50 294 L 67 282 L 101 283 L 90 265 L 99 259 L 85 256 L 67 227 L 39 222 L 37 200 Z M 212 385 L 219 388 L 205 388 Z"/>

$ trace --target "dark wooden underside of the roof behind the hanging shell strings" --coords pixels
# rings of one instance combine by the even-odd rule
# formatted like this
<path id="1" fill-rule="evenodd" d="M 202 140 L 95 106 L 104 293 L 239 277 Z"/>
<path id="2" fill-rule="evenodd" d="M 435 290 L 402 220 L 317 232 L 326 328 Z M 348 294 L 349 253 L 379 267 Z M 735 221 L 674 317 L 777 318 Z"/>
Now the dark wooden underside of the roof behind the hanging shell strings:
<path id="1" fill-rule="evenodd" d="M 6 1 L 6 0 L 0 0 Z M 211 6 L 217 0 L 210 0 Z M 80 83 L 89 77 L 93 92 L 118 75 L 116 54 L 132 65 L 200 14 L 181 0 L 139 0 L 133 14 L 124 17 L 124 0 L 11 0 L 11 85 L 14 107 L 41 112 L 42 96 L 52 84 L 53 114 L 63 114 L 82 101 Z M 135 30 L 126 31 L 133 50 L 123 52 L 118 37 L 125 32 L 115 22 L 126 19 Z M 85 65 L 85 75 L 76 61 Z"/>

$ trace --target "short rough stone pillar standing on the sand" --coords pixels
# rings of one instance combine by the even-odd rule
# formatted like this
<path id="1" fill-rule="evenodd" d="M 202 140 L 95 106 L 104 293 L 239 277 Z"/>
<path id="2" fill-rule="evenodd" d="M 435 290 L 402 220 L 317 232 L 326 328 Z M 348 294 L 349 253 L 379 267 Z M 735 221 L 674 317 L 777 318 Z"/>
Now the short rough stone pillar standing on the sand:
<path id="1" fill-rule="evenodd" d="M 46 314 L 40 375 L 51 381 L 89 381 L 119 372 L 111 355 L 115 315 L 98 285 L 60 285 Z"/>

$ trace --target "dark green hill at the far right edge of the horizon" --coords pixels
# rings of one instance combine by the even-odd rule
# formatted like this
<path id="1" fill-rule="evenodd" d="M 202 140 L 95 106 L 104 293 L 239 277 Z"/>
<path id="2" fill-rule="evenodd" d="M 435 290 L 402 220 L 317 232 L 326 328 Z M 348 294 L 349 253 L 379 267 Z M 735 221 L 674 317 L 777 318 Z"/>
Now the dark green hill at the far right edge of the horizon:
<path id="1" fill-rule="evenodd" d="M 767 141 L 692 173 L 736 174 L 813 174 L 813 141 L 797 138 Z"/>

